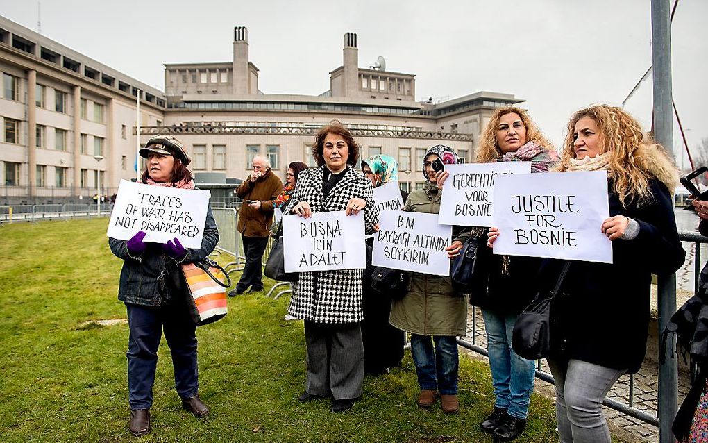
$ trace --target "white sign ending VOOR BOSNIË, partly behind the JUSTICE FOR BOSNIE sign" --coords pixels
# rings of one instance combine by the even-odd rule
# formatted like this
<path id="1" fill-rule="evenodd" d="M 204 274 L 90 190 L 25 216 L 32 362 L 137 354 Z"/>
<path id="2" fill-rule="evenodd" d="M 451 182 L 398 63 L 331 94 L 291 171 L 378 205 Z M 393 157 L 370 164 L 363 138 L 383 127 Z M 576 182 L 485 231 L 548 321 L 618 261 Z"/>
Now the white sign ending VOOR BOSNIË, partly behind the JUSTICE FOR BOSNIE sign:
<path id="1" fill-rule="evenodd" d="M 491 226 L 494 177 L 530 174 L 531 162 L 446 164 L 442 186 L 442 225 Z"/>

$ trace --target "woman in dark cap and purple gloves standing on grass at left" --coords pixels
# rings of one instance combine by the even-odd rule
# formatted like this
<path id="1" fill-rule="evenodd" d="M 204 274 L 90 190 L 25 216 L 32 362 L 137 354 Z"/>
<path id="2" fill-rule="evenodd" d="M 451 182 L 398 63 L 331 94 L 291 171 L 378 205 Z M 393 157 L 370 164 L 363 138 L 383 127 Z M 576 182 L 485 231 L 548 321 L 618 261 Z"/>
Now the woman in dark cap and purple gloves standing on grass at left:
<path id="1" fill-rule="evenodd" d="M 147 159 L 139 183 L 179 189 L 195 189 L 187 169 L 190 157 L 183 145 L 169 135 L 157 135 L 140 150 Z M 144 242 L 138 231 L 130 240 L 108 239 L 110 250 L 123 260 L 118 300 L 127 308 L 128 328 L 128 403 L 130 432 L 150 432 L 152 385 L 157 367 L 157 349 L 164 331 L 174 366 L 175 387 L 182 406 L 197 417 L 209 413 L 199 398 L 197 377 L 196 326 L 190 318 L 185 294 L 173 293 L 166 284 L 168 263 L 192 263 L 205 259 L 219 241 L 219 231 L 207 207 L 202 245 L 185 248 L 178 239 L 164 245 Z"/>

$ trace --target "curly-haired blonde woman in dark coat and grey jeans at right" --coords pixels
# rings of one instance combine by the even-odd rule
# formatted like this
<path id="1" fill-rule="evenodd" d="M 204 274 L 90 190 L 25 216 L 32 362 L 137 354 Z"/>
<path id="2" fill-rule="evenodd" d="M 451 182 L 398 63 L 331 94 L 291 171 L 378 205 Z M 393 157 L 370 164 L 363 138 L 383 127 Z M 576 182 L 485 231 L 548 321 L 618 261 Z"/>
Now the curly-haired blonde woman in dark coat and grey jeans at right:
<path id="1" fill-rule="evenodd" d="M 612 264 L 571 262 L 553 305 L 548 363 L 563 443 L 610 442 L 603 399 L 644 360 L 651 274 L 675 272 L 685 256 L 673 214 L 678 170 L 632 116 L 607 105 L 573 114 L 556 167 L 600 169 L 609 179 L 610 218 L 598 229 L 612 241 Z M 490 230 L 489 242 L 498 235 Z M 544 267 L 536 279 L 542 290 L 555 284 L 558 265 Z"/>

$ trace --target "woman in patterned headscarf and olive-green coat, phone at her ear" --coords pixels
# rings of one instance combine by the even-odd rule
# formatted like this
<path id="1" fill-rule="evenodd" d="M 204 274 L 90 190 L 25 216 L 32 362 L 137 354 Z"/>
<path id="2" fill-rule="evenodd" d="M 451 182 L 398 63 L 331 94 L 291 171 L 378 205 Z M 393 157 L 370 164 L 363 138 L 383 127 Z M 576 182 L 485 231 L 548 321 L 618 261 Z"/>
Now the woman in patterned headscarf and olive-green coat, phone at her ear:
<path id="1" fill-rule="evenodd" d="M 409 194 L 404 211 L 440 212 L 442 191 L 435 185 L 438 173 L 432 167 L 438 158 L 443 164 L 457 163 L 457 155 L 450 147 L 431 147 L 423 157 L 426 183 Z M 453 228 L 453 237 L 457 230 Z M 393 302 L 389 322 L 411 332 L 411 355 L 421 388 L 418 406 L 430 408 L 440 393 L 443 412 L 457 413 L 457 336 L 467 333 L 467 298 L 452 288 L 449 276 L 413 272 L 408 293 Z"/>

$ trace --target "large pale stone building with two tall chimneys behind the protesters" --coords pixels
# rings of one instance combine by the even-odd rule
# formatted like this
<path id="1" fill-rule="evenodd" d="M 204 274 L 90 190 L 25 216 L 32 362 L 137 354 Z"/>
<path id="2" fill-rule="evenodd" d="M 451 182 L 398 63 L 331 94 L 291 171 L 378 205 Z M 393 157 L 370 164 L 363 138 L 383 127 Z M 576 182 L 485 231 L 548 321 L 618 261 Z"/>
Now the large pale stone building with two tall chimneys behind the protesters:
<path id="1" fill-rule="evenodd" d="M 289 162 L 314 165 L 313 135 L 337 119 L 353 130 L 362 157 L 399 159 L 404 189 L 422 186 L 427 147 L 449 145 L 469 161 L 494 108 L 523 101 L 477 92 L 420 103 L 415 74 L 388 71 L 382 59 L 359 67 L 355 33 L 344 35 L 343 64 L 319 96 L 263 94 L 242 27 L 234 29 L 231 62 L 165 65 L 165 92 L 3 17 L 0 40 L 0 204 L 91 196 L 97 171 L 108 195 L 135 178 L 138 96 L 139 141 L 176 135 L 194 172 L 243 178 L 251 159 L 265 155 L 285 176 Z"/>

